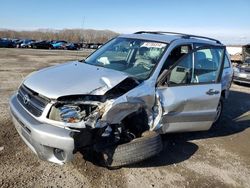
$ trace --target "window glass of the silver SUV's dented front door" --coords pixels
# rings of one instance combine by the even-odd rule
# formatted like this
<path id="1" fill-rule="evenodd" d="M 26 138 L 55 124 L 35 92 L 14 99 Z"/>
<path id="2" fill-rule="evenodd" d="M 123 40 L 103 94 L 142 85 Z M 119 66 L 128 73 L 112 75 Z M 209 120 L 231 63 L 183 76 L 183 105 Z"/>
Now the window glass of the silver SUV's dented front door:
<path id="1" fill-rule="evenodd" d="M 216 83 L 223 56 L 223 47 L 202 47 L 194 50 L 174 64 L 168 84 Z"/>

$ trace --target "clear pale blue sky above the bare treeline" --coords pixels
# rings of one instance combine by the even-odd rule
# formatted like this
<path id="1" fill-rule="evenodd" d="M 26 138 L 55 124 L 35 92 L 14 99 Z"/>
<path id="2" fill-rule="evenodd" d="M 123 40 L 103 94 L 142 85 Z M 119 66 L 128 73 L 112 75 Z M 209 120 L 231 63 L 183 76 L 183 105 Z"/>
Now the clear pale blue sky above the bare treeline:
<path id="1" fill-rule="evenodd" d="M 0 28 L 175 31 L 250 42 L 250 0 L 0 0 Z"/>

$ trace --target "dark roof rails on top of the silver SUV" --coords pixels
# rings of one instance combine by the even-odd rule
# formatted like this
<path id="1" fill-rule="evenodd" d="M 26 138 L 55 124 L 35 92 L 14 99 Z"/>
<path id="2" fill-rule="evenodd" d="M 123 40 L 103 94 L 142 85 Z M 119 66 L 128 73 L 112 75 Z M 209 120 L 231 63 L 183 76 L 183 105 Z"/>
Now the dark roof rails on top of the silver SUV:
<path id="1" fill-rule="evenodd" d="M 181 35 L 182 38 L 189 39 L 189 38 L 200 38 L 200 39 L 206 39 L 206 40 L 211 40 L 214 41 L 218 44 L 221 44 L 219 40 L 209 38 L 209 37 L 203 37 L 199 35 L 190 35 L 190 34 L 185 34 L 185 33 L 178 33 L 178 32 L 168 32 L 168 31 L 138 31 L 135 32 L 134 34 L 143 34 L 143 33 L 148 33 L 148 34 L 172 34 L 172 35 Z"/>

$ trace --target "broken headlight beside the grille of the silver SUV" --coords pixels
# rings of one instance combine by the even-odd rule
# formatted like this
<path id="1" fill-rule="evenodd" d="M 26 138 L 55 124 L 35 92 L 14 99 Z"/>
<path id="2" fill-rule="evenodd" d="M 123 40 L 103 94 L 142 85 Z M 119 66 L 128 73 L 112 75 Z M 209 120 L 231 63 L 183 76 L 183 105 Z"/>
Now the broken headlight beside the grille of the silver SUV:
<path id="1" fill-rule="evenodd" d="M 56 104 L 52 106 L 48 117 L 65 123 L 79 123 L 86 121 L 96 108 L 96 105 L 91 104 Z"/>

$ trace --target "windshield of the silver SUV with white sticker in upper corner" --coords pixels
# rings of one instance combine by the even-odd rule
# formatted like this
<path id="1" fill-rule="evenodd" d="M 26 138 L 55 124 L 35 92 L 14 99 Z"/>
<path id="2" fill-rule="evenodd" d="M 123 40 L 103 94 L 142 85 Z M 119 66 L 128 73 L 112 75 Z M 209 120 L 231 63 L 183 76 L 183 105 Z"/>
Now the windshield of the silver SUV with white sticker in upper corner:
<path id="1" fill-rule="evenodd" d="M 114 69 L 145 80 L 159 62 L 167 44 L 115 38 L 90 55 L 85 63 Z"/>

